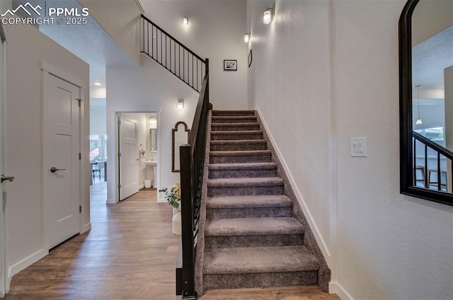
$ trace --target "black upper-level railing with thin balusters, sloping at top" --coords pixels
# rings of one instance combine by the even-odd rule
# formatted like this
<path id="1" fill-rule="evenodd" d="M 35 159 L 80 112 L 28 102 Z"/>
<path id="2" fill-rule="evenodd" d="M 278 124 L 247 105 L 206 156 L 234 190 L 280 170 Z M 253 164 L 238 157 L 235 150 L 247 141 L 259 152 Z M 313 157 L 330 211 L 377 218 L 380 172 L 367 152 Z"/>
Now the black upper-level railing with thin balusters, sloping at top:
<path id="1" fill-rule="evenodd" d="M 206 75 L 206 62 L 165 30 L 142 15 L 141 52 L 154 59 L 200 93 Z"/>

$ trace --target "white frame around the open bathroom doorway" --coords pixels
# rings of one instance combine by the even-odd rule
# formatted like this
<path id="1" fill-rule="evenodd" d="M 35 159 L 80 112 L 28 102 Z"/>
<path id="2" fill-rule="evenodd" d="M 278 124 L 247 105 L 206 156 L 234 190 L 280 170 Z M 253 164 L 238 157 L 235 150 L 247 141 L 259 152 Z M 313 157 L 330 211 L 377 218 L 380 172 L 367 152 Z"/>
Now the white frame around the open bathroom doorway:
<path id="1" fill-rule="evenodd" d="M 107 204 L 115 204 L 120 202 L 120 191 L 118 189 L 118 184 L 120 183 L 120 163 L 118 159 L 118 153 L 120 151 L 119 143 L 120 143 L 120 132 L 118 130 L 118 120 L 119 115 L 125 114 L 132 114 L 132 113 L 155 113 L 157 116 L 157 127 L 160 127 L 161 123 L 161 110 L 160 108 L 152 109 L 152 108 L 142 108 L 142 109 L 134 109 L 131 108 L 128 110 L 127 108 L 108 108 L 107 111 L 107 135 L 115 137 L 115 140 L 109 144 L 107 144 L 107 164 L 109 165 L 108 168 L 108 176 L 107 178 L 115 178 L 115 180 L 108 180 L 107 184 L 107 195 L 108 200 Z M 109 126 L 109 119 L 110 119 L 110 126 Z M 110 134 L 110 135 L 109 135 Z M 156 187 L 159 189 L 160 187 L 160 145 L 161 145 L 161 134 L 158 130 L 157 132 L 157 170 L 156 170 Z M 111 167 L 110 167 L 111 166 Z"/>

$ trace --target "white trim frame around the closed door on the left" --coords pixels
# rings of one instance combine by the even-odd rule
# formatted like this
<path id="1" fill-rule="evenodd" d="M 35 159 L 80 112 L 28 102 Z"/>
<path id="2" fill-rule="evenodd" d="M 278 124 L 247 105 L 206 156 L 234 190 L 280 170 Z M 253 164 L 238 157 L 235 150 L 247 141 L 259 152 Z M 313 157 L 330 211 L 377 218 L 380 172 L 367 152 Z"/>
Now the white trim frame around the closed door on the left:
<path id="1" fill-rule="evenodd" d="M 88 166 L 89 166 L 89 158 L 88 158 L 88 152 L 85 151 L 85 149 L 88 149 L 88 137 L 86 137 L 86 125 L 85 125 L 85 107 L 88 106 L 89 108 L 89 103 L 86 103 L 86 82 L 83 81 L 82 79 L 78 79 L 74 76 L 72 76 L 71 74 L 68 74 L 66 71 L 62 71 L 61 69 L 57 68 L 57 67 L 54 67 L 52 66 L 52 64 L 49 64 L 47 62 L 41 62 L 41 67 L 40 67 L 41 71 L 42 71 L 42 88 L 41 88 L 41 108 L 42 108 L 42 111 L 41 111 L 41 118 L 42 120 L 44 120 L 44 117 L 45 117 L 45 111 L 44 111 L 44 108 L 45 108 L 45 105 L 44 105 L 44 101 L 45 101 L 45 86 L 47 84 L 47 81 L 46 81 L 46 76 L 49 76 L 49 75 L 52 75 L 52 76 L 56 76 L 57 78 L 59 79 L 62 79 L 64 81 L 67 81 L 71 84 L 73 84 L 74 86 L 77 86 L 79 87 L 79 91 L 80 91 L 80 98 L 81 98 L 81 101 L 80 101 L 80 110 L 79 110 L 79 151 L 81 153 L 81 159 L 79 160 L 79 206 L 81 207 L 81 212 L 85 212 L 85 214 L 88 214 L 88 222 L 87 224 L 84 224 L 84 214 L 82 213 L 79 213 L 79 234 L 81 233 L 84 233 L 86 231 L 88 231 L 89 229 L 91 229 L 91 223 L 90 223 L 90 218 L 89 218 L 89 214 L 90 214 L 90 197 L 89 197 L 89 194 L 88 194 L 88 197 L 86 197 L 86 194 L 87 194 L 87 191 L 89 191 L 89 183 L 87 180 L 89 180 L 88 176 L 86 175 L 87 172 L 91 172 L 91 171 L 88 171 Z M 42 141 L 44 142 L 45 140 L 45 122 L 42 122 Z M 89 129 L 89 126 L 88 126 L 88 129 Z M 44 144 L 44 143 L 43 143 Z M 43 146 L 44 147 L 44 146 Z M 86 152 L 86 154 L 85 154 Z M 44 156 L 45 156 L 45 147 L 44 149 L 42 149 L 42 164 L 41 164 L 41 169 L 42 169 L 42 178 L 44 178 L 44 173 L 47 173 L 47 169 L 46 167 L 44 166 Z M 41 188 L 42 188 L 42 195 L 41 195 L 41 199 L 42 199 L 42 219 L 44 220 L 42 222 L 42 232 L 44 233 L 43 235 L 43 239 L 42 239 L 42 247 L 44 248 L 44 250 L 49 250 L 49 248 L 47 247 L 47 240 L 45 238 L 46 236 L 46 232 L 45 232 L 45 211 L 44 211 L 44 207 L 45 207 L 45 198 L 44 198 L 44 180 L 42 179 L 41 180 Z M 87 201 L 84 201 L 84 199 L 87 199 Z"/>

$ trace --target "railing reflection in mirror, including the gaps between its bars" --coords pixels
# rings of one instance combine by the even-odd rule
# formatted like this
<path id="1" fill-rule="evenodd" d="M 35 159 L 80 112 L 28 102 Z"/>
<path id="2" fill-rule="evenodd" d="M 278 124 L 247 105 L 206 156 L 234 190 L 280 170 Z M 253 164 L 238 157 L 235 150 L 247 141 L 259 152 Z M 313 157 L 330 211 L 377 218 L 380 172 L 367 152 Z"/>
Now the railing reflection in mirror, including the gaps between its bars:
<path id="1" fill-rule="evenodd" d="M 452 194 L 453 187 L 453 152 L 430 141 L 418 132 L 412 132 L 413 137 L 413 186 L 434 189 L 438 192 Z M 418 144 L 423 147 L 423 153 L 418 155 Z M 421 161 L 421 163 L 420 163 Z M 450 171 L 448 168 L 450 167 Z M 421 176 L 418 176 L 418 172 Z"/>

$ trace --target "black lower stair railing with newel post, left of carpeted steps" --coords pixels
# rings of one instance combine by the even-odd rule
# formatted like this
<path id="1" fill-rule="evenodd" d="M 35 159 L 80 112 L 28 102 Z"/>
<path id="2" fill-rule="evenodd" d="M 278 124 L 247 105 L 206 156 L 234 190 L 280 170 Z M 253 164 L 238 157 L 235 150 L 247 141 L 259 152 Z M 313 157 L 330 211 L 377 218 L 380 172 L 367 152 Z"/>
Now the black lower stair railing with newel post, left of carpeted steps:
<path id="1" fill-rule="evenodd" d="M 200 221 L 200 200 L 205 164 L 206 125 L 209 110 L 209 59 L 187 145 L 180 146 L 182 293 L 181 299 L 196 299 L 195 253 Z"/>

